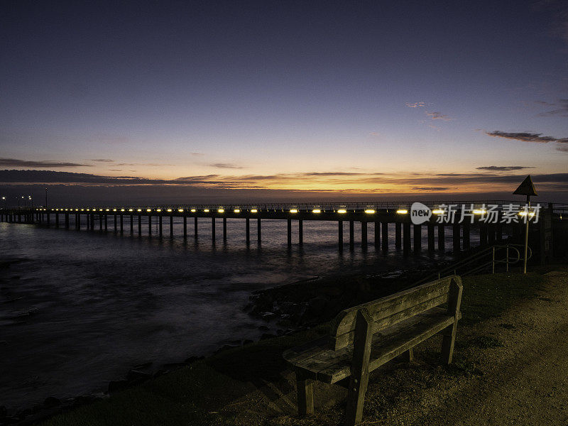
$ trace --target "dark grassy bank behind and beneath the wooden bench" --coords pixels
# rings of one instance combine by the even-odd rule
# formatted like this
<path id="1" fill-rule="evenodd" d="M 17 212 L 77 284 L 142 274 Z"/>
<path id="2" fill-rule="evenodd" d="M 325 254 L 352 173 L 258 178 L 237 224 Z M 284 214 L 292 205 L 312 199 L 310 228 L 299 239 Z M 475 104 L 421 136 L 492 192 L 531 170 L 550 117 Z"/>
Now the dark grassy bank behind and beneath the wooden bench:
<path id="1" fill-rule="evenodd" d="M 544 280 L 545 277 L 537 273 L 464 277 L 463 319 L 452 366 L 440 366 L 437 344 L 418 346 L 417 358 L 421 357 L 425 363 L 420 370 L 425 373 L 408 373 L 404 369 L 401 373 L 388 365 L 379 368 L 373 373 L 371 383 L 376 380 L 381 386 L 388 386 L 388 391 L 380 400 L 369 400 L 366 410 L 388 413 L 389 406 L 397 399 L 405 398 L 405 393 L 413 392 L 416 387 L 433 386 L 430 382 L 440 375 L 476 374 L 476 362 L 479 361 L 468 355 L 471 350 L 499 345 L 495 337 L 476 334 L 476 324 L 498 317 L 520 299 L 535 297 Z M 337 424 L 341 420 L 343 404 L 317 410 L 315 417 L 301 420 L 295 416 L 293 375 L 285 373 L 287 366 L 281 358 L 288 347 L 326 333 L 327 324 L 320 324 L 292 336 L 222 351 L 105 400 L 57 415 L 43 425 Z M 317 393 L 321 394 L 322 388 L 325 387 L 320 387 Z M 327 386 L 329 388 L 333 386 Z"/>

